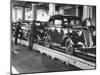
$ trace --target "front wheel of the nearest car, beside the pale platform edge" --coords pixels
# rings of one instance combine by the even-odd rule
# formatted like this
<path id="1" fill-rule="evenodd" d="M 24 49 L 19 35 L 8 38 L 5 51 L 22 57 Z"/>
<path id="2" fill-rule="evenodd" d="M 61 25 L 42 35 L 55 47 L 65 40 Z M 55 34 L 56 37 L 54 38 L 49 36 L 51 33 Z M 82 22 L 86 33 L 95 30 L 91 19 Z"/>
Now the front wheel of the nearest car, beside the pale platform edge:
<path id="1" fill-rule="evenodd" d="M 65 50 L 69 55 L 72 55 L 74 53 L 72 40 L 70 38 L 67 38 L 65 41 Z"/>

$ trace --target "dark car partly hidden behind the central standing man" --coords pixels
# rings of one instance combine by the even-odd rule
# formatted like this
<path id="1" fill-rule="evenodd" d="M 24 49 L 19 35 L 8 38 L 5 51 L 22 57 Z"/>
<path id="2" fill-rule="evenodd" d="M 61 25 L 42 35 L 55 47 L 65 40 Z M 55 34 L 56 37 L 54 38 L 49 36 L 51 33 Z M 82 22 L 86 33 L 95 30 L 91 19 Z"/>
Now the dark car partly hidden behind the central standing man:
<path id="1" fill-rule="evenodd" d="M 39 44 L 41 42 L 41 40 L 43 40 L 43 36 L 44 36 L 44 29 L 45 29 L 45 22 L 42 22 L 42 21 L 24 21 L 22 23 L 22 32 L 23 32 L 23 38 L 24 40 L 28 40 L 28 37 L 29 37 L 29 33 L 30 33 L 30 30 L 31 30 L 31 25 L 33 25 L 33 22 L 34 24 L 36 25 L 36 31 L 37 31 L 37 39 L 34 39 L 34 41 L 36 41 L 37 44 Z"/>

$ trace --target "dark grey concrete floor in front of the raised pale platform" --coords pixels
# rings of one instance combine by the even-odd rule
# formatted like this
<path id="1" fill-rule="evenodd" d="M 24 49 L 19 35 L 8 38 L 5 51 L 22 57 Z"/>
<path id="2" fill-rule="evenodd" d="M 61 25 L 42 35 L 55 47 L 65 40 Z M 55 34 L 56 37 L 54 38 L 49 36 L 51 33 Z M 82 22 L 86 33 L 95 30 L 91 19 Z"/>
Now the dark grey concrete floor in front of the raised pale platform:
<path id="1" fill-rule="evenodd" d="M 78 68 L 66 65 L 57 59 L 52 60 L 45 54 L 29 50 L 25 46 L 17 45 L 13 46 L 11 49 L 14 51 L 11 56 L 12 66 L 14 66 L 19 73 L 79 70 Z"/>

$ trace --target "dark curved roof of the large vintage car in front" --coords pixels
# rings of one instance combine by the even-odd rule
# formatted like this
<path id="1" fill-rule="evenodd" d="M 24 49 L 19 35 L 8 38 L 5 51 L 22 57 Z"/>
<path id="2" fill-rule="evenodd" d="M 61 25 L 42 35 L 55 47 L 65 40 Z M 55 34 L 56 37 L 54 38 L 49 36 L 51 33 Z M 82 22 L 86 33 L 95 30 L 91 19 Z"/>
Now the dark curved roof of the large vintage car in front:
<path id="1" fill-rule="evenodd" d="M 64 19 L 64 18 L 67 18 L 67 19 L 70 19 L 70 20 L 81 20 L 81 18 L 77 17 L 77 16 L 67 16 L 67 15 L 53 15 L 50 17 L 49 20 L 54 20 L 54 19 Z"/>

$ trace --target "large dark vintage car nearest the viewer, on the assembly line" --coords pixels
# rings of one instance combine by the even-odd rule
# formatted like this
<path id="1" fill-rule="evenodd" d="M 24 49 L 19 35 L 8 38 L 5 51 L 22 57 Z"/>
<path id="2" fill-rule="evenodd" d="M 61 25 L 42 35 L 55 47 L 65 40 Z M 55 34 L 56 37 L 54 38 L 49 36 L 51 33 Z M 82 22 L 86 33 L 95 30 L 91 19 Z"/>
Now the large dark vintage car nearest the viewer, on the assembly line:
<path id="1" fill-rule="evenodd" d="M 68 54 L 74 54 L 79 48 L 92 49 L 96 35 L 93 35 L 95 27 L 91 24 L 90 18 L 82 21 L 76 16 L 51 16 L 46 26 L 44 46 L 64 48 Z"/>

